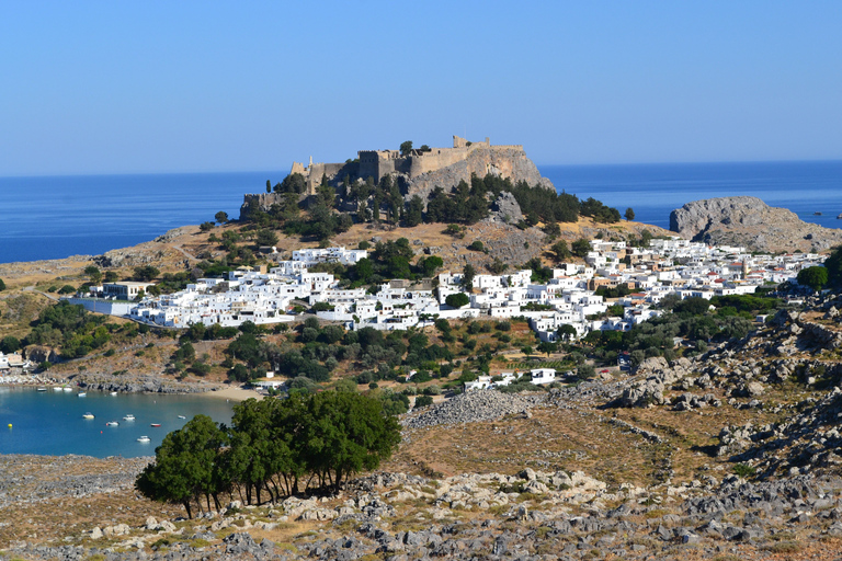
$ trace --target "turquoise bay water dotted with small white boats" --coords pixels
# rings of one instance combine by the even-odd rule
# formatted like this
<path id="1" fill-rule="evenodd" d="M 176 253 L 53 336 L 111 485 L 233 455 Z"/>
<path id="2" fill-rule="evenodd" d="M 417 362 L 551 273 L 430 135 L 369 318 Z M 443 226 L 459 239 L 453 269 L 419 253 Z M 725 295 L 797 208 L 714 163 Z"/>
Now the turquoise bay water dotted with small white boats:
<path id="1" fill-rule="evenodd" d="M 39 454 L 60 456 L 79 454 L 107 456 L 153 456 L 163 436 L 184 426 L 193 415 L 205 414 L 214 421 L 230 423 L 235 402 L 207 396 L 169 396 L 89 391 L 59 392 L 47 388 L 0 387 L 0 454 Z M 82 419 L 87 412 L 94 419 Z M 136 421 L 124 421 L 132 413 Z M 184 415 L 186 419 L 179 419 Z M 117 421 L 120 426 L 106 426 Z M 8 425 L 11 423 L 12 427 Z M 151 423 L 160 423 L 156 428 Z M 138 443 L 139 436 L 150 443 Z"/>

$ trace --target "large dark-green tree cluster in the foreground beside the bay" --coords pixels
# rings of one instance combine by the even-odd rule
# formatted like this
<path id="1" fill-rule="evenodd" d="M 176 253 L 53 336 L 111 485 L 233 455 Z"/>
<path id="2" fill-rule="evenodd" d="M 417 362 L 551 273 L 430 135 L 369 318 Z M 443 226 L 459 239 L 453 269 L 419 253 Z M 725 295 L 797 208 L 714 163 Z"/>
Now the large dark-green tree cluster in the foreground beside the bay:
<path id="1" fill-rule="evenodd" d="M 239 496 L 261 504 L 301 492 L 337 490 L 373 470 L 400 442 L 400 427 L 378 400 L 349 391 L 247 400 L 231 426 L 196 415 L 168 434 L 135 488 L 146 497 L 181 504 L 189 517 Z"/>

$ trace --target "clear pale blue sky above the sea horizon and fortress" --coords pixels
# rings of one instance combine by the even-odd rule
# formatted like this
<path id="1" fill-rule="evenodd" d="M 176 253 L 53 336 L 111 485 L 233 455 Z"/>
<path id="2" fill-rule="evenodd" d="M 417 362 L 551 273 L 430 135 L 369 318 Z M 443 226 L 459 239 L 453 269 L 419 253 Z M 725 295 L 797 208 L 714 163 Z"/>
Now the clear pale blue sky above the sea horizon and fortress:
<path id="1" fill-rule="evenodd" d="M 0 175 L 842 158 L 842 2 L 0 3 Z"/>

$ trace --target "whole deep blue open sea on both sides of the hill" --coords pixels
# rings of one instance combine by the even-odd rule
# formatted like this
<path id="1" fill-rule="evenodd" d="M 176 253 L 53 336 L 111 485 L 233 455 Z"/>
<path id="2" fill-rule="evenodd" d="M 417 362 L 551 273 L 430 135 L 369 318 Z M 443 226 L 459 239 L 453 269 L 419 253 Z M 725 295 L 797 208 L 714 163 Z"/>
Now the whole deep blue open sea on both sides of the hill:
<path id="1" fill-rule="evenodd" d="M 559 191 L 594 197 L 669 228 L 670 211 L 701 198 L 752 195 L 803 220 L 842 227 L 842 161 L 539 165 Z M 0 178 L 0 263 L 58 259 L 149 241 L 171 228 L 239 216 L 243 193 L 282 171 Z M 816 215 L 821 213 L 821 215 Z"/>

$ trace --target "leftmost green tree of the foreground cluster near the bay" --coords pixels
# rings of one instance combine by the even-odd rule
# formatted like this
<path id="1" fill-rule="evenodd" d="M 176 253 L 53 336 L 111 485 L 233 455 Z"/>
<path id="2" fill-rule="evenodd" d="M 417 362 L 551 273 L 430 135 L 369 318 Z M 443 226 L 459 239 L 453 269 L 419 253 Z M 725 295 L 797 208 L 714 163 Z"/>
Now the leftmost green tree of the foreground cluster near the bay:
<path id="1" fill-rule="evenodd" d="M 202 511 L 204 496 L 210 510 L 210 496 L 220 491 L 215 469 L 226 435 L 207 415 L 196 415 L 181 430 L 163 437 L 149 463 L 135 481 L 135 489 L 147 499 L 181 504 L 193 517 L 192 502 Z"/>

